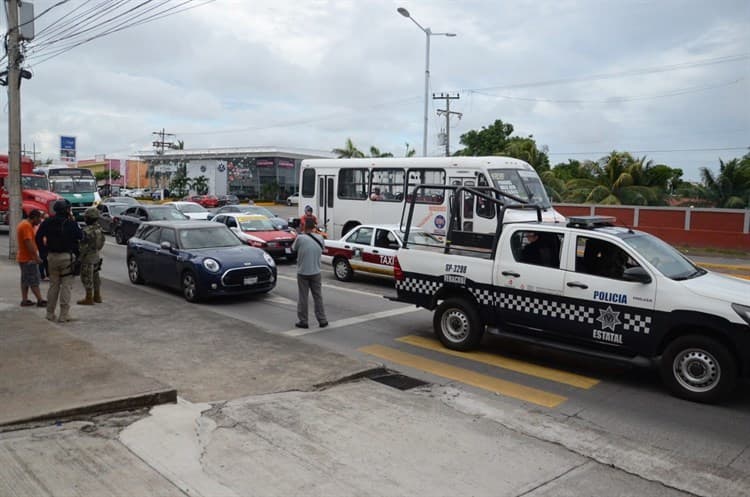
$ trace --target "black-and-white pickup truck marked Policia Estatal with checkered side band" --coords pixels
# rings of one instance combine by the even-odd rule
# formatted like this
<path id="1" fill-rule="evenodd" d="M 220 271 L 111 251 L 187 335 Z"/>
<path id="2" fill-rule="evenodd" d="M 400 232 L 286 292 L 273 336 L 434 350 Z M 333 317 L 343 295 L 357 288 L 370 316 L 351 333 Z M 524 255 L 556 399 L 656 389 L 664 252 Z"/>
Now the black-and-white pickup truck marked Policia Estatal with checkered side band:
<path id="1" fill-rule="evenodd" d="M 468 194 L 459 187 L 457 204 Z M 393 300 L 434 310 L 444 346 L 471 349 L 488 331 L 658 365 L 675 395 L 699 402 L 719 401 L 750 373 L 750 282 L 697 267 L 614 218 L 498 218 L 486 234 L 451 216 L 445 247 L 407 243 L 397 253 Z"/>

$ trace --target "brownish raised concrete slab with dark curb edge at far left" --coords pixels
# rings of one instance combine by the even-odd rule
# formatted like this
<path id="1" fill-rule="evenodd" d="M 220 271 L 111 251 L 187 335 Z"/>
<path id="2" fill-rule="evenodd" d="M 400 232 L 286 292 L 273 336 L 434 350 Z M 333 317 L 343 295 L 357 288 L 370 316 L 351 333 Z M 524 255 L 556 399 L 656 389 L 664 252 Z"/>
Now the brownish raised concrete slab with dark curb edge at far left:
<path id="1" fill-rule="evenodd" d="M 46 292 L 46 286 L 42 288 Z M 19 273 L 0 263 L 0 426 L 175 402 L 174 388 L 20 307 Z"/>

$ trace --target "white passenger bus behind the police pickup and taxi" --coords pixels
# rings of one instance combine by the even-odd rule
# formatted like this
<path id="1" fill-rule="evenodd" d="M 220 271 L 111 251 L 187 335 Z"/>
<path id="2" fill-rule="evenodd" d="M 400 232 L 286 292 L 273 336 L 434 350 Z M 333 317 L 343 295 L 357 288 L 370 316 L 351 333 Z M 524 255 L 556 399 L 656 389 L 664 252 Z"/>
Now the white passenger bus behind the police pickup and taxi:
<path id="1" fill-rule="evenodd" d="M 534 168 L 511 157 L 307 159 L 300 167 L 299 215 L 312 206 L 329 238 L 360 224 L 398 224 L 415 185 L 492 186 L 542 208 L 545 221 L 563 222 Z M 418 192 L 413 226 L 445 235 L 449 199 L 444 189 Z M 465 194 L 464 229 L 495 230 L 494 205 Z M 504 222 L 536 219 L 535 210 L 506 212 Z M 406 219 L 404 217 L 404 222 Z"/>

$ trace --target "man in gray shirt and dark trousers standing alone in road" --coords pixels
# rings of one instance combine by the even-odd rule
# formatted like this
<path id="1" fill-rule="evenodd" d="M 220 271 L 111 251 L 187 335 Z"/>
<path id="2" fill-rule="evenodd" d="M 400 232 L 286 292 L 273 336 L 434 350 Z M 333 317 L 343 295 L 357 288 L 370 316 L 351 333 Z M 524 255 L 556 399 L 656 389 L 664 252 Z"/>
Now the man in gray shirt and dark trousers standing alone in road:
<path id="1" fill-rule="evenodd" d="M 294 240 L 292 249 L 297 252 L 297 328 L 307 328 L 307 294 L 313 294 L 315 318 L 321 328 L 328 326 L 326 311 L 323 309 L 321 291 L 320 256 L 323 254 L 324 241 L 320 235 L 313 234 L 315 221 L 305 219 L 303 232 Z"/>

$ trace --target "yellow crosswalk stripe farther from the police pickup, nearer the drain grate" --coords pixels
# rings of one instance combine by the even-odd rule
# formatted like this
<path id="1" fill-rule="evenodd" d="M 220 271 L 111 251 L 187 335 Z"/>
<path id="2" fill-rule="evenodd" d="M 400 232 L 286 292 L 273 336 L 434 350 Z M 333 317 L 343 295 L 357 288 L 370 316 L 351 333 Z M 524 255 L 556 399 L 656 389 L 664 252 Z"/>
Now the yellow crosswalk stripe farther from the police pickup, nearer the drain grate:
<path id="1" fill-rule="evenodd" d="M 383 360 L 390 361 L 402 366 L 418 369 L 426 373 L 434 374 L 449 380 L 459 381 L 483 390 L 494 392 L 514 399 L 531 402 L 532 404 L 544 407 L 557 407 L 566 400 L 562 395 L 545 392 L 536 388 L 519 385 L 510 381 L 493 378 L 484 374 L 476 373 L 468 369 L 458 368 L 432 359 L 420 357 L 418 355 L 401 352 L 384 345 L 368 345 L 361 347 L 360 352 L 379 357 Z"/>

